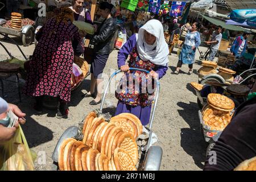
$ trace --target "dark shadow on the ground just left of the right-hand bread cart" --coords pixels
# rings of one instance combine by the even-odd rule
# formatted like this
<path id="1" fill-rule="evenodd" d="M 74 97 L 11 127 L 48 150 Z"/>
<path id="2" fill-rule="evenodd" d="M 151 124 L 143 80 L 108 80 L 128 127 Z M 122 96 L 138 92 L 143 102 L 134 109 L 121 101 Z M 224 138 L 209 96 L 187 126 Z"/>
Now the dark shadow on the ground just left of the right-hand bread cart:
<path id="1" fill-rule="evenodd" d="M 181 147 L 191 155 L 195 164 L 203 169 L 202 162 L 205 161 L 205 151 L 207 150 L 207 143 L 200 131 L 200 121 L 197 115 L 198 106 L 195 102 L 189 104 L 178 102 L 178 106 L 182 109 L 177 110 L 179 115 L 188 123 L 190 128 L 181 129 Z"/>

